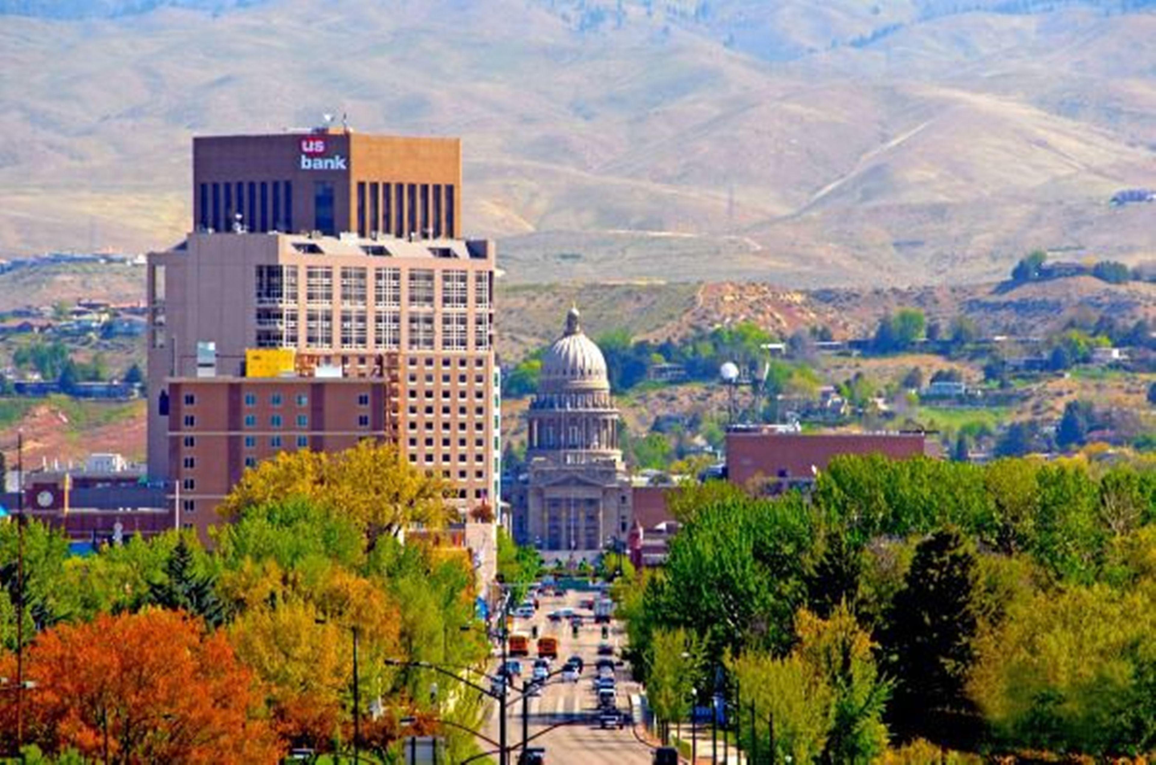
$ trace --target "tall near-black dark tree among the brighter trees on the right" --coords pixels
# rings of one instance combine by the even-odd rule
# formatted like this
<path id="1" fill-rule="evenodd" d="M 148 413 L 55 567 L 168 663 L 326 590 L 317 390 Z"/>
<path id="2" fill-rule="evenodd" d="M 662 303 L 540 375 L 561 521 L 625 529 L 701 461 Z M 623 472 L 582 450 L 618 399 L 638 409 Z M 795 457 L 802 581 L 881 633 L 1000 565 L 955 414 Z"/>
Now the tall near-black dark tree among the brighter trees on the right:
<path id="1" fill-rule="evenodd" d="M 936 532 L 916 548 L 882 636 L 884 666 L 896 678 L 888 716 L 902 735 L 973 740 L 965 682 L 979 627 L 977 595 L 975 554 L 959 532 Z"/>

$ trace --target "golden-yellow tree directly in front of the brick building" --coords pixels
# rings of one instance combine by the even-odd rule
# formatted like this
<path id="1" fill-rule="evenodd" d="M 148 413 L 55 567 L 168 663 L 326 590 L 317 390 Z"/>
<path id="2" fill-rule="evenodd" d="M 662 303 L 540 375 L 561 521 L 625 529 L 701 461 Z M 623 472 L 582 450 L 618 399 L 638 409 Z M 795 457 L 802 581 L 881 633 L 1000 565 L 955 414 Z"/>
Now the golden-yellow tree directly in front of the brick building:
<path id="1" fill-rule="evenodd" d="M 304 498 L 351 520 L 372 548 L 410 523 L 442 526 L 449 493 L 440 476 L 409 465 L 393 445 L 366 439 L 334 454 L 282 452 L 246 470 L 218 512 L 232 521 L 250 507 Z"/>

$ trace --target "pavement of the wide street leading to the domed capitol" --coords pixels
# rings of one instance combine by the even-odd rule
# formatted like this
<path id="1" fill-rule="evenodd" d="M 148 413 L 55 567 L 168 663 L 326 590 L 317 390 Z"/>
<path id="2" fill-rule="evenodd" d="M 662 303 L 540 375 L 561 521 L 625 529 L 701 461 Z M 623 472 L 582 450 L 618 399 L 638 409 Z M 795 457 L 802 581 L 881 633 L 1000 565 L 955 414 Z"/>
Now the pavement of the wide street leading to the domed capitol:
<path id="1" fill-rule="evenodd" d="M 541 597 L 541 607 L 533 619 L 516 618 L 512 632 L 529 634 L 531 627 L 538 625 L 539 636 L 558 638 L 558 658 L 554 662 L 551 671 L 561 669 L 566 659 L 578 654 L 585 661 L 583 674 L 577 683 L 565 683 L 561 675 L 549 679 L 542 695 L 529 698 L 529 714 L 525 718 L 528 726 L 528 735 L 533 737 L 558 723 L 560 727 L 543 733 L 538 738 L 529 742 L 531 747 L 546 748 L 546 762 L 549 765 L 573 763 L 581 765 L 649 765 L 651 762 L 651 749 L 635 737 L 631 726 L 622 729 L 609 728 L 602 730 L 598 723 L 598 700 L 593 688 L 596 677 L 595 662 L 598 661 L 598 645 L 601 640 L 601 625 L 594 624 L 593 612 L 590 609 L 579 608 L 581 600 L 595 597 L 594 593 L 568 592 L 565 597 L 547 596 Z M 572 608 L 576 614 L 583 616 L 583 625 L 579 629 L 577 640 L 572 637 L 569 619 L 561 622 L 549 622 L 547 615 L 560 608 Z M 616 623 L 610 625 L 609 643 L 615 647 L 614 659 L 621 659 L 618 647 L 624 640 L 624 634 Z M 521 660 L 523 675 L 516 681 L 516 686 L 521 688 L 521 681 L 531 677 L 534 659 L 538 656 L 536 641 L 531 641 L 531 655 Z M 637 695 L 639 686 L 630 681 L 628 667 L 620 667 L 615 671 L 617 705 L 621 712 L 630 712 L 630 697 Z M 521 741 L 523 736 L 523 704 L 520 692 L 511 693 L 512 699 L 517 699 L 510 705 L 507 720 L 507 736 L 511 743 Z M 491 705 L 486 720 L 486 734 L 492 738 L 498 737 L 498 716 L 496 705 Z M 518 750 L 520 751 L 520 750 Z M 495 760 L 496 762 L 496 758 Z M 517 763 L 517 755 L 511 757 L 511 765 Z"/>

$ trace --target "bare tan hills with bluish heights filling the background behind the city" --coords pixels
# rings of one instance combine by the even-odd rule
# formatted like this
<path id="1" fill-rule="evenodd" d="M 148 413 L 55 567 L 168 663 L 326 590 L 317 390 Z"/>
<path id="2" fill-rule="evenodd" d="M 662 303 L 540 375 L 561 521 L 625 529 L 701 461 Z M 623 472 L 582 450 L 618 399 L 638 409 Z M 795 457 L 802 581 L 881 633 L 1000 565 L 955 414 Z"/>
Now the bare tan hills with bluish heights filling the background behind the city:
<path id="1" fill-rule="evenodd" d="M 193 135 L 344 112 L 462 138 L 464 230 L 512 282 L 1154 260 L 1156 206 L 1109 203 L 1156 186 L 1154 7 L 0 0 L 0 257 L 166 246 Z M 69 8 L 103 15 L 28 15 Z"/>

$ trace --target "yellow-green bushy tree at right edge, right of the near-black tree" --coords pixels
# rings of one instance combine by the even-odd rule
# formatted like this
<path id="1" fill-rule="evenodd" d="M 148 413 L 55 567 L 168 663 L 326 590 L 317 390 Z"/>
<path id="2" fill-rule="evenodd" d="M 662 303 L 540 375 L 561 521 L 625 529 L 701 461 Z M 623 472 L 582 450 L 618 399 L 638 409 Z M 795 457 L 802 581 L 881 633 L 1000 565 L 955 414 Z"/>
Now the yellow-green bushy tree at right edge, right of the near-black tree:
<path id="1" fill-rule="evenodd" d="M 1040 592 L 978 640 L 969 688 L 996 743 L 1094 756 L 1156 748 L 1156 580 Z"/>

